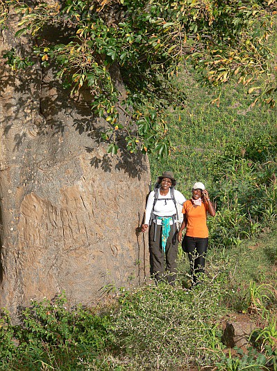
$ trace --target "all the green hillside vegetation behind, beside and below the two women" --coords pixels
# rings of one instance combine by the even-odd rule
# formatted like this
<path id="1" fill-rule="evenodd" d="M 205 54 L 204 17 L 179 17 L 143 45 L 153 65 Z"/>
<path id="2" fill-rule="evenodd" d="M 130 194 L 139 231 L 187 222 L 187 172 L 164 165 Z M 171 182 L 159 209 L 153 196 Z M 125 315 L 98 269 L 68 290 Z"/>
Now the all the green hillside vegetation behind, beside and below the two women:
<path id="1" fill-rule="evenodd" d="M 185 108 L 168 111 L 171 155 L 150 157 L 153 183 L 174 171 L 190 198 L 203 182 L 217 205 L 209 220 L 205 283 L 187 290 L 180 249 L 176 287 L 151 281 L 133 290 L 112 285 L 104 308 L 72 308 L 64 294 L 33 302 L 23 326 L 3 312 L 1 370 L 277 370 L 276 113 L 251 106 L 242 86 L 229 84 L 220 104 L 195 74 L 176 81 Z M 255 324 L 249 347 L 229 352 L 226 319 Z"/>

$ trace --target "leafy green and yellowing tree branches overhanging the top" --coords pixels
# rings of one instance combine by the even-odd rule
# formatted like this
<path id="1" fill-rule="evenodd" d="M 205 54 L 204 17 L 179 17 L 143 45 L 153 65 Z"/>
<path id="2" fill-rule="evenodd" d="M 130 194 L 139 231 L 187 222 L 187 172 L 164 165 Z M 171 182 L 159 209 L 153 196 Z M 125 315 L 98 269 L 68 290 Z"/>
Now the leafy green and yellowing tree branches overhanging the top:
<path id="1" fill-rule="evenodd" d="M 5 54 L 7 63 L 14 69 L 35 60 L 42 67 L 55 65 L 72 95 L 89 88 L 92 115 L 108 122 L 101 137 L 112 153 L 123 133 L 131 152 L 168 154 L 165 109 L 183 103 L 171 84 L 182 63 L 192 63 L 205 84 L 235 77 L 247 86 L 263 74 L 264 85 L 254 84 L 249 93 L 263 96 L 275 89 L 268 41 L 274 0 L 0 0 L 0 12 L 2 28 L 17 13 L 15 35 L 33 40 L 31 56 L 12 49 Z M 49 38 L 47 29 L 57 37 Z M 113 66 L 126 97 L 117 90 Z M 274 104 L 272 97 L 266 99 Z M 126 123 L 119 122 L 120 110 Z"/>

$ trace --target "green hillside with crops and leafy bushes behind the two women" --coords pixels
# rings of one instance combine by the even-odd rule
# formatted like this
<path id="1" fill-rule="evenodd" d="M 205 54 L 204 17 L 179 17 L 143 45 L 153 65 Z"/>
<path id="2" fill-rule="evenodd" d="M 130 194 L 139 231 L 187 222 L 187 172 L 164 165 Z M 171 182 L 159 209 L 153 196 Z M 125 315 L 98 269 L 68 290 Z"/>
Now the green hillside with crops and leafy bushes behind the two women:
<path id="1" fill-rule="evenodd" d="M 276 109 L 252 106 L 243 85 L 203 88 L 189 71 L 176 84 L 186 98 L 168 112 L 170 156 L 150 155 L 153 183 L 170 169 L 190 198 L 192 184 L 203 182 L 217 205 L 209 221 L 211 244 L 240 244 L 276 219 Z"/>

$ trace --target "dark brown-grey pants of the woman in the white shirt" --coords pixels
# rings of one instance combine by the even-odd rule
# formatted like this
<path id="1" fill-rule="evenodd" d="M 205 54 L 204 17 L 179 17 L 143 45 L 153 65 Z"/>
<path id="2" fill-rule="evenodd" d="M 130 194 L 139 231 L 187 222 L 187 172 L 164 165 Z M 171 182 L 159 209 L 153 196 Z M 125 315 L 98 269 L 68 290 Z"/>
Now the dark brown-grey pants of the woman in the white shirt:
<path id="1" fill-rule="evenodd" d="M 149 248 L 150 248 L 150 263 L 151 274 L 157 281 L 160 281 L 165 276 L 168 283 L 173 284 L 176 280 L 177 272 L 177 254 L 178 244 L 176 243 L 176 233 L 174 226 L 170 226 L 165 253 L 162 249 L 162 226 L 156 226 L 156 241 L 154 239 L 155 223 L 152 223 L 149 230 Z M 176 228 L 175 228 L 176 230 Z M 166 269 L 165 269 L 166 265 Z"/>

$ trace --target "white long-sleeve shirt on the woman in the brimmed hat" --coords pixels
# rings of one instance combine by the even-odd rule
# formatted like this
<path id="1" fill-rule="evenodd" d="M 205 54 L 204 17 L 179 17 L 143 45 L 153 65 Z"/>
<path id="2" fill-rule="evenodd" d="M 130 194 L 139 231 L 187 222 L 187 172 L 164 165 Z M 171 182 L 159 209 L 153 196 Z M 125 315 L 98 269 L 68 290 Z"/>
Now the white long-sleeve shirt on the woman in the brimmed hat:
<path id="1" fill-rule="evenodd" d="M 144 224 L 149 225 L 151 211 L 152 211 L 153 203 L 154 203 L 154 196 L 155 196 L 155 191 L 151 191 L 148 196 L 147 203 L 146 203 Z M 174 189 L 174 196 L 176 199 L 176 204 L 183 205 L 183 203 L 186 201 L 183 194 L 177 191 L 177 189 Z M 158 189 L 158 200 L 154 206 L 153 214 L 156 214 L 157 216 L 171 216 L 171 215 L 176 214 L 176 207 L 174 205 L 174 201 L 171 200 L 170 189 L 165 196 L 161 195 L 160 189 Z M 161 224 L 162 221 L 158 219 L 156 223 Z"/>

